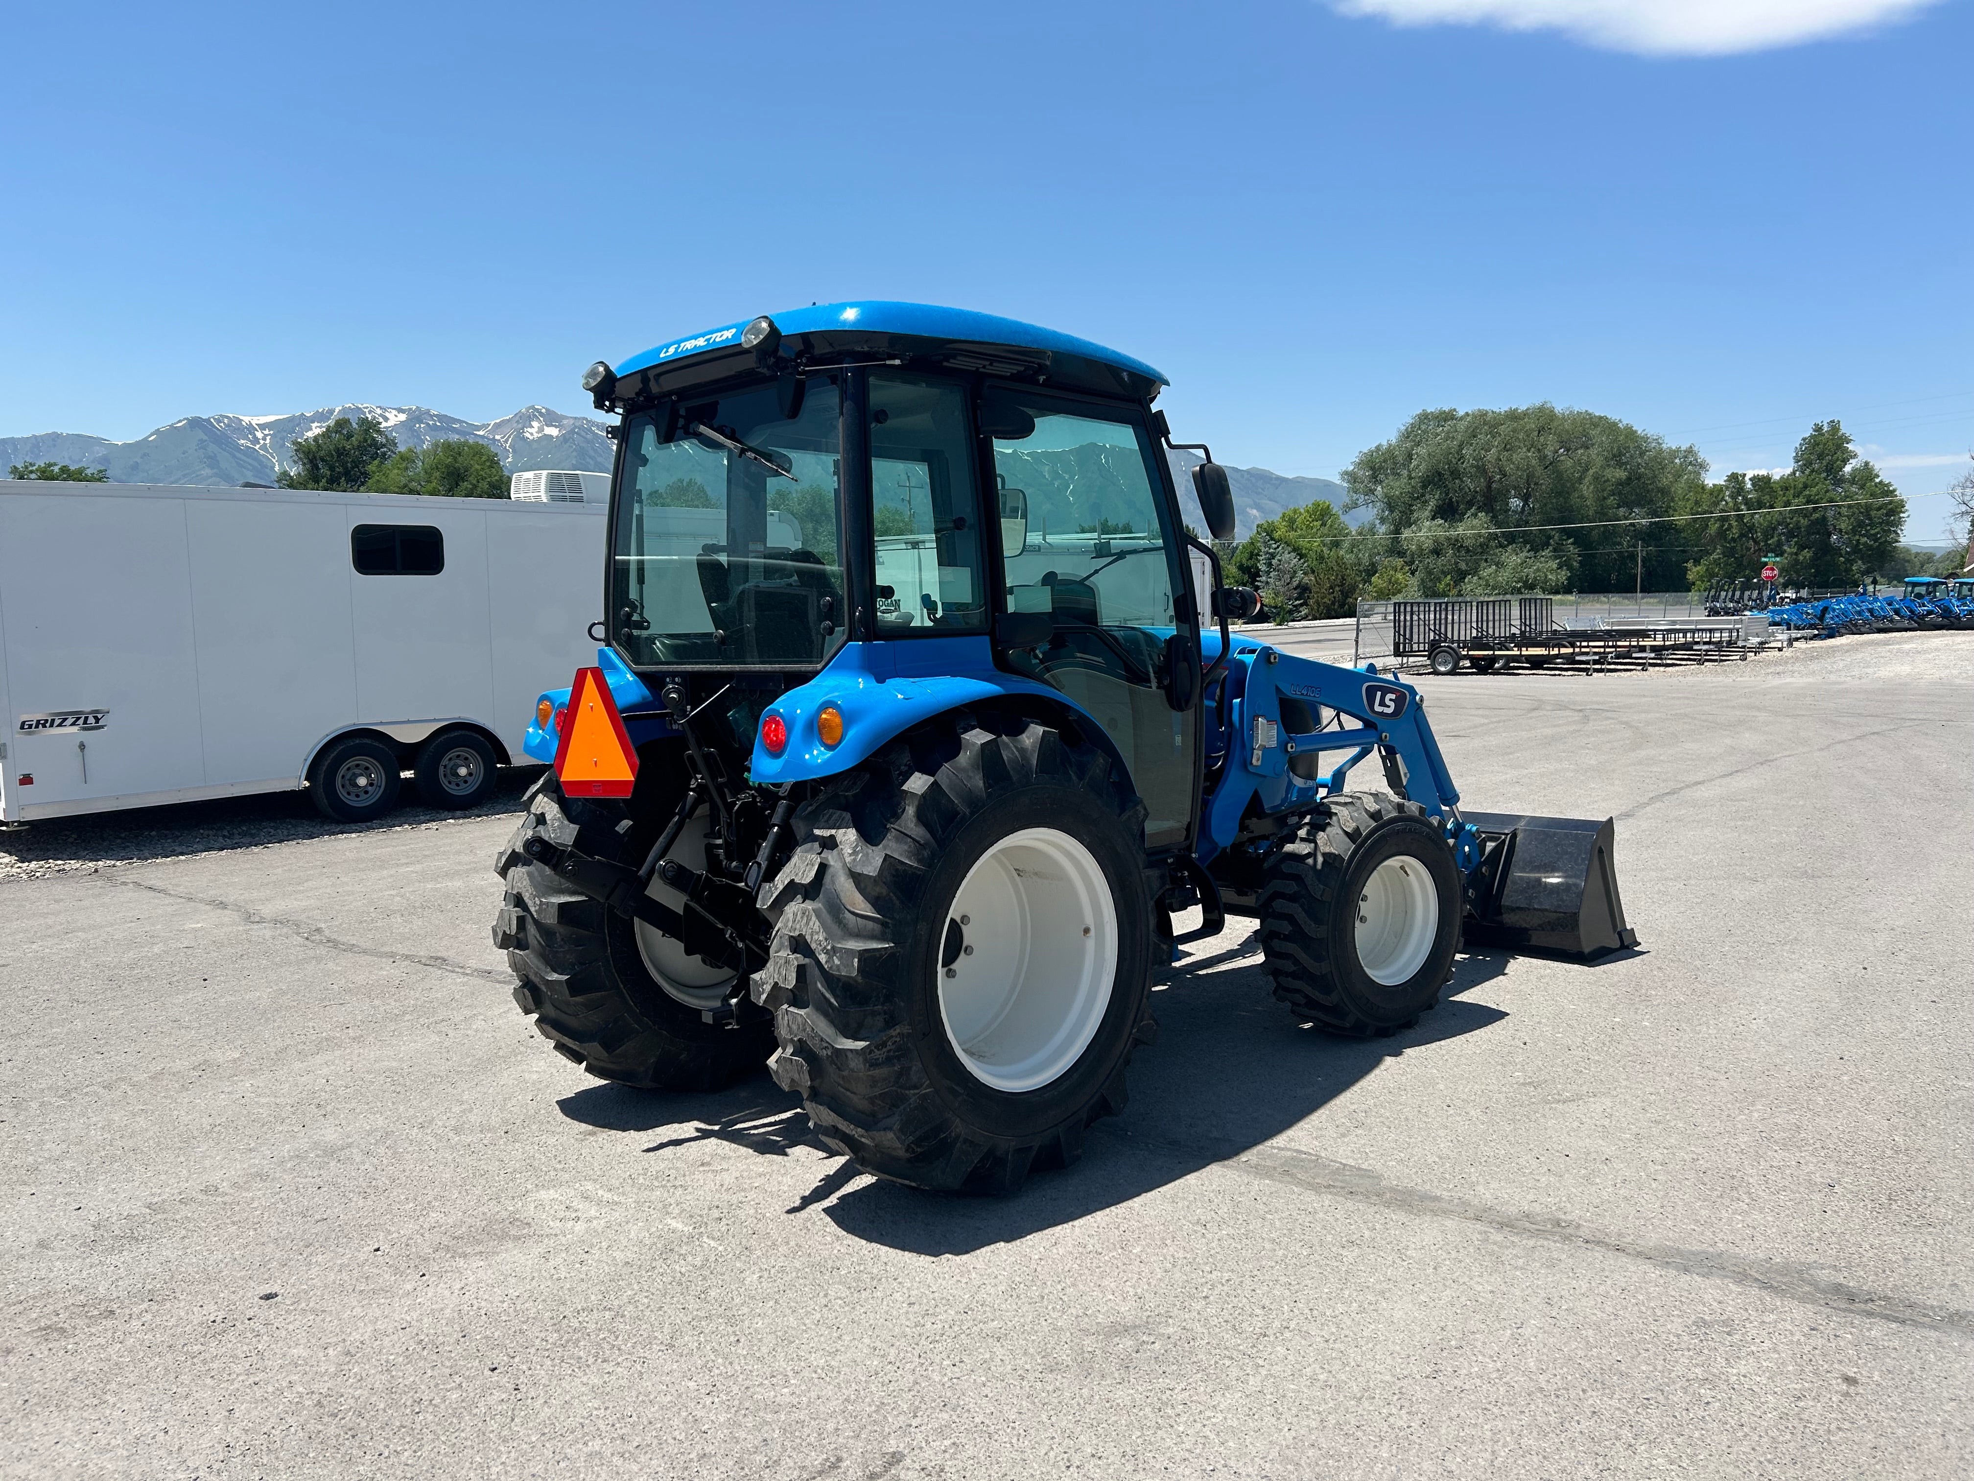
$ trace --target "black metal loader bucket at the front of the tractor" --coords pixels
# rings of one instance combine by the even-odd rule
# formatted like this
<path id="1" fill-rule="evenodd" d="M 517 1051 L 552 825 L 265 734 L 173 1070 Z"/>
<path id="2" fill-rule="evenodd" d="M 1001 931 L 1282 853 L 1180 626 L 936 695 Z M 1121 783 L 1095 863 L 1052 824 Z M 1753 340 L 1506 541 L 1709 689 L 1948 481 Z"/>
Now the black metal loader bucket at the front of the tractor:
<path id="1" fill-rule="evenodd" d="M 1463 818 L 1482 849 L 1467 881 L 1467 940 L 1579 960 L 1638 944 L 1617 893 L 1611 818 Z"/>

